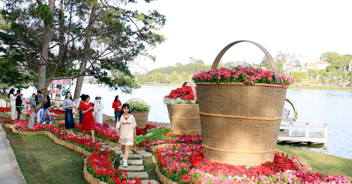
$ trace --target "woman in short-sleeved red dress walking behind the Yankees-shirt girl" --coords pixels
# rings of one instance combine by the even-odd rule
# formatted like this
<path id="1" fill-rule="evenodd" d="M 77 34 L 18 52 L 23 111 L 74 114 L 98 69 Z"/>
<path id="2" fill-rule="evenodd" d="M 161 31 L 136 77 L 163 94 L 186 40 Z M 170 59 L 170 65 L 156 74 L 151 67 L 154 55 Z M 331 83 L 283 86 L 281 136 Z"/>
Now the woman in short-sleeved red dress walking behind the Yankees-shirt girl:
<path id="1" fill-rule="evenodd" d="M 95 142 L 94 117 L 93 117 L 94 107 L 92 107 L 93 103 L 89 102 L 90 100 L 89 95 L 86 95 L 85 97 L 86 97 L 86 102 L 82 103 L 81 105 L 81 110 L 82 110 L 82 113 L 84 114 L 81 130 L 83 131 L 83 138 L 86 138 L 86 133 L 90 131 L 92 133 L 93 142 Z"/>

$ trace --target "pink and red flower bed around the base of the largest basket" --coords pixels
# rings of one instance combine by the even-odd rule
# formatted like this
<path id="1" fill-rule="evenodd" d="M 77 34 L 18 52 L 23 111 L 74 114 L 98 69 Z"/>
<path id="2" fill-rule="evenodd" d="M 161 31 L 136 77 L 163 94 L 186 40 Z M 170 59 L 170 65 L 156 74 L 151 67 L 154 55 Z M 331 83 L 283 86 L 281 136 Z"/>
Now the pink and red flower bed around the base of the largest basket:
<path id="1" fill-rule="evenodd" d="M 159 171 L 177 183 L 352 183 L 342 175 L 314 172 L 298 157 L 275 154 L 274 162 L 245 168 L 203 158 L 201 145 L 172 145 L 156 149 Z"/>

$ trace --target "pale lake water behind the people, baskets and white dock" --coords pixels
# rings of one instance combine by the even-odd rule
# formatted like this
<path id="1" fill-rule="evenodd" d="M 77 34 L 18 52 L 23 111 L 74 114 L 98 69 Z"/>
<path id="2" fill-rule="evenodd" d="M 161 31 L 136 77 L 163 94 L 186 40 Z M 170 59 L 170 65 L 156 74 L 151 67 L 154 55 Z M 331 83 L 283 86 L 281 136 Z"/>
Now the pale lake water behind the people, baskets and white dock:
<path id="1" fill-rule="evenodd" d="M 180 84 L 180 87 L 182 85 Z M 72 93 L 74 93 L 75 86 Z M 163 97 L 168 95 L 172 89 L 177 87 L 158 87 L 142 86 L 134 89 L 132 94 L 121 94 L 120 90 L 109 91 L 108 88 L 99 87 L 95 84 L 83 84 L 81 94 L 88 94 L 94 101 L 97 94 L 102 97 L 105 105 L 103 113 L 114 116 L 112 102 L 116 95 L 120 96 L 122 103 L 131 98 L 140 98 L 151 105 L 149 121 L 170 123 L 168 110 L 163 103 Z M 28 88 L 23 91 L 24 97 L 28 98 L 35 89 Z M 297 107 L 297 121 L 320 121 L 328 123 L 328 143 L 307 143 L 307 142 L 279 142 L 284 146 L 290 146 L 306 151 L 319 152 L 328 155 L 334 155 L 352 159 L 352 141 L 349 134 L 352 132 L 351 107 L 352 91 L 333 91 L 333 90 L 295 90 L 288 89 L 287 98 L 289 98 Z M 215 99 L 214 99 L 215 100 Z M 286 102 L 285 107 L 293 112 L 291 105 Z M 293 117 L 289 115 L 290 117 Z M 348 133 L 350 132 L 350 133 Z"/>

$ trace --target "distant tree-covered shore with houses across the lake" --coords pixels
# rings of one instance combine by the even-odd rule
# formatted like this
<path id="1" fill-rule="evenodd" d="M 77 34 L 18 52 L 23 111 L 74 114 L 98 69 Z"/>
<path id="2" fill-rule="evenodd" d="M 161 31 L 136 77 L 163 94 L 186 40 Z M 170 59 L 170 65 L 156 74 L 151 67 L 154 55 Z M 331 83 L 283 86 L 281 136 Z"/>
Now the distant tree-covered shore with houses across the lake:
<path id="1" fill-rule="evenodd" d="M 346 79 L 352 78 L 351 73 L 348 72 L 348 64 L 352 60 L 352 55 L 350 54 L 339 55 L 337 52 L 323 53 L 320 56 L 320 61 L 327 61 L 331 65 L 326 69 L 320 70 L 304 68 L 304 66 L 301 66 L 300 57 L 301 55 L 299 54 L 278 52 L 274 59 L 279 73 L 284 72 L 291 75 L 297 83 L 305 82 L 307 79 L 313 77 L 321 79 L 322 83 L 337 82 L 337 79 L 334 78 L 341 78 L 343 82 L 349 82 L 350 80 Z M 134 77 L 139 83 L 181 83 L 191 81 L 193 74 L 208 71 L 212 67 L 211 65 L 205 65 L 201 59 L 196 60 L 190 57 L 189 61 L 188 64 L 176 63 L 175 66 L 156 68 L 146 74 L 135 73 Z M 266 55 L 263 56 L 262 62 L 259 64 L 249 64 L 243 61 L 222 63 L 220 61 L 218 68 L 232 68 L 235 66 L 262 67 L 272 70 Z"/>

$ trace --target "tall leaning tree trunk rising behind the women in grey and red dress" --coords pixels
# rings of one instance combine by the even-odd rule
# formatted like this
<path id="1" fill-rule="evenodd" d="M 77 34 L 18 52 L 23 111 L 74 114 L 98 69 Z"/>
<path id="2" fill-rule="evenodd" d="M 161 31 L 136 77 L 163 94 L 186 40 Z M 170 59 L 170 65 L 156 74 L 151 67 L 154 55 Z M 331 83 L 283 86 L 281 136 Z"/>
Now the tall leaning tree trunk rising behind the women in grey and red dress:
<path id="1" fill-rule="evenodd" d="M 92 28 L 94 26 L 96 9 L 97 9 L 97 4 L 95 1 L 92 6 L 92 12 L 90 12 L 89 25 L 87 27 L 86 38 L 84 41 L 84 59 L 81 62 L 81 67 L 80 67 L 81 76 L 77 77 L 75 94 L 73 97 L 73 101 L 76 104 L 80 102 L 80 96 L 81 96 L 80 94 L 82 90 L 83 78 L 84 78 L 84 74 L 86 74 L 86 68 L 87 68 L 87 62 L 88 62 L 89 56 L 91 55 L 91 52 L 89 50 L 90 50 L 90 42 L 92 40 Z"/>

